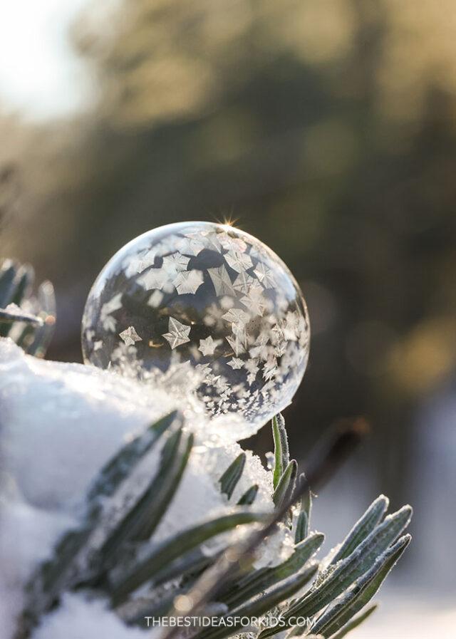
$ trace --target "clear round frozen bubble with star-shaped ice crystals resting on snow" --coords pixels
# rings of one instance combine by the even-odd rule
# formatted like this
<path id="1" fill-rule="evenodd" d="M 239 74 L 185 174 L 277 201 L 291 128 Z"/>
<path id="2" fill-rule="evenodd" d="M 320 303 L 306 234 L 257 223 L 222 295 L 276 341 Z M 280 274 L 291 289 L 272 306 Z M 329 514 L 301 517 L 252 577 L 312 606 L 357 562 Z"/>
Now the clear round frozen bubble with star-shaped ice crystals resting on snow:
<path id="1" fill-rule="evenodd" d="M 178 380 L 212 415 L 261 425 L 291 402 L 309 355 L 299 286 L 268 246 L 227 224 L 184 222 L 123 246 L 89 293 L 86 363 Z"/>

